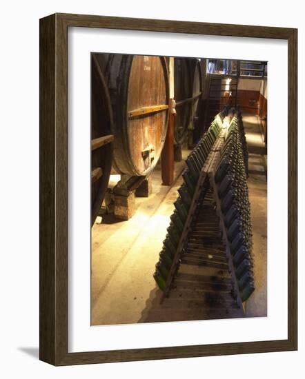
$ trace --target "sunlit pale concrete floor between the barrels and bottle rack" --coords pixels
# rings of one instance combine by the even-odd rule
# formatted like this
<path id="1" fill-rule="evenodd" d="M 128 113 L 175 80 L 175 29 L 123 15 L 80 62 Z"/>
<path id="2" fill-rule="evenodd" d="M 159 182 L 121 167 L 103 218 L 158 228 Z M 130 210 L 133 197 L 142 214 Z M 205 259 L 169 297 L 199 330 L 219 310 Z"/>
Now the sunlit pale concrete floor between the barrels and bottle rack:
<path id="1" fill-rule="evenodd" d="M 186 156 L 188 152 L 184 152 Z M 184 156 L 185 157 L 185 156 Z M 185 163 L 175 163 L 175 183 L 161 185 L 157 166 L 152 174 L 153 194 L 136 198 L 137 212 L 129 221 L 92 227 L 92 325 L 139 322 L 151 291 L 155 264 L 182 183 Z"/>

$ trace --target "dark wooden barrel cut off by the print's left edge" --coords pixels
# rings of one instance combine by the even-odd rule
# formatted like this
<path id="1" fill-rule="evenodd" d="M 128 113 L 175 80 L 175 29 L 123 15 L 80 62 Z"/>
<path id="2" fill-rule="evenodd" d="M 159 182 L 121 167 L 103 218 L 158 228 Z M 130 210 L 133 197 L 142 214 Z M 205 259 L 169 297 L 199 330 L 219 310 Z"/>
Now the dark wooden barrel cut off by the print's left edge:
<path id="1" fill-rule="evenodd" d="M 108 187 L 113 155 L 113 116 L 104 74 L 91 60 L 91 225 Z"/>

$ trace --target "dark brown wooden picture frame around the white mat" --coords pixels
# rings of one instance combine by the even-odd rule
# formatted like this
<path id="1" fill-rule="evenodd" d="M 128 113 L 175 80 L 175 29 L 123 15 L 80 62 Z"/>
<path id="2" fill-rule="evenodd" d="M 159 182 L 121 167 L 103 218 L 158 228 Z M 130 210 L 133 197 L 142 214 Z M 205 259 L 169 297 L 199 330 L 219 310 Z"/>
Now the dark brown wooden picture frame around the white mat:
<path id="1" fill-rule="evenodd" d="M 288 41 L 288 339 L 68 353 L 68 28 Z M 297 29 L 52 14 L 40 20 L 40 359 L 52 365 L 297 349 Z"/>

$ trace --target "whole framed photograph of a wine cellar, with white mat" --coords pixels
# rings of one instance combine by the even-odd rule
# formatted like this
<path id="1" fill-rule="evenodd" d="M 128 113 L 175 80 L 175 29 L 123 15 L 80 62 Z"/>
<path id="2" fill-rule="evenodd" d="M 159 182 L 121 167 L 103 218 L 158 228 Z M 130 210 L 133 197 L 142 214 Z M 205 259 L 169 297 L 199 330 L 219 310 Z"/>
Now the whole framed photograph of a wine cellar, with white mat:
<path id="1" fill-rule="evenodd" d="M 39 320 L 52 365 L 297 349 L 296 29 L 40 20 Z"/>

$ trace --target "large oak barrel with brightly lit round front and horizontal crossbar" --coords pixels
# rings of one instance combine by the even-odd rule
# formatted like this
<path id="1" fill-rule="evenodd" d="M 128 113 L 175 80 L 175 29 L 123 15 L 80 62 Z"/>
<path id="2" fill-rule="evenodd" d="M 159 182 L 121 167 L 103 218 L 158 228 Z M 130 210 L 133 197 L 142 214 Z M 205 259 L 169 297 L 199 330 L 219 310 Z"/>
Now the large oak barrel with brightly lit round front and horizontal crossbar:
<path id="1" fill-rule="evenodd" d="M 164 57 L 95 54 L 115 119 L 113 167 L 131 176 L 157 164 L 168 127 L 168 70 Z"/>

